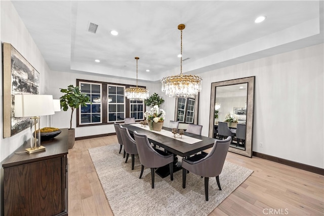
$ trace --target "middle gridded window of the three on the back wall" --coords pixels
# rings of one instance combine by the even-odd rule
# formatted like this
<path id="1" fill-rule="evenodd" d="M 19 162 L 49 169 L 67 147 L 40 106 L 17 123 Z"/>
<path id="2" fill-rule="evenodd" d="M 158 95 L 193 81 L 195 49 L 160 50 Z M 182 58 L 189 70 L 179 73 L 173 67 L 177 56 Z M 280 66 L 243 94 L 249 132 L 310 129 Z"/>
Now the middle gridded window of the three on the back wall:
<path id="1" fill-rule="evenodd" d="M 108 122 L 120 122 L 125 118 L 125 86 L 108 85 Z"/>

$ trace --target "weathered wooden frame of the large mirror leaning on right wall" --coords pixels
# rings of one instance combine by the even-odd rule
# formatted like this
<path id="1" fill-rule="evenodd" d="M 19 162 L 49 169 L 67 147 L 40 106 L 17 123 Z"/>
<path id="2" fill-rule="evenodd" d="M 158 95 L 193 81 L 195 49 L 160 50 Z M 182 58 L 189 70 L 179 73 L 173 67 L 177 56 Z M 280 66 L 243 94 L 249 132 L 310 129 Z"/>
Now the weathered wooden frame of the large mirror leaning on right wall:
<path id="1" fill-rule="evenodd" d="M 243 83 L 248 83 L 246 146 L 245 146 L 245 150 L 229 147 L 228 151 L 252 158 L 255 76 L 212 83 L 209 137 L 213 137 L 214 135 L 214 121 L 215 121 L 214 111 L 215 111 L 216 87 L 243 84 Z"/>

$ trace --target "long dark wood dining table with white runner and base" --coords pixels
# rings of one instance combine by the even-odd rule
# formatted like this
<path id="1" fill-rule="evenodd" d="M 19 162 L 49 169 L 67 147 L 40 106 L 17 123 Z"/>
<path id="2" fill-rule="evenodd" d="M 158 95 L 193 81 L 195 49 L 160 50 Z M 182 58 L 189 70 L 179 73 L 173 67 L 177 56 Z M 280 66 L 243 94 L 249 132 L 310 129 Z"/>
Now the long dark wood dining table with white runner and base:
<path id="1" fill-rule="evenodd" d="M 128 128 L 129 133 L 133 136 L 134 131 L 145 134 L 150 143 L 163 148 L 166 152 L 174 155 L 173 171 L 181 170 L 181 162 L 178 161 L 177 155 L 186 158 L 197 154 L 201 151 L 212 148 L 216 139 L 185 132 L 180 135 L 172 133 L 172 128 L 163 127 L 161 131 L 150 130 L 147 125 L 139 123 L 125 124 L 122 127 Z M 170 174 L 169 166 L 161 167 L 156 170 L 156 174 L 166 177 Z"/>

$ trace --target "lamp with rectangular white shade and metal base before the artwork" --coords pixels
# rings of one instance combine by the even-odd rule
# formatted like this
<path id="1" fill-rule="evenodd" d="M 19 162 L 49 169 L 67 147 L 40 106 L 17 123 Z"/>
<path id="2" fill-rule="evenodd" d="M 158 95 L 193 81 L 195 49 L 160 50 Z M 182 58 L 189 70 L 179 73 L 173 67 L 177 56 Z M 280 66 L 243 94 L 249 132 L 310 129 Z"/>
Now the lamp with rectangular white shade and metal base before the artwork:
<path id="1" fill-rule="evenodd" d="M 15 117 L 30 117 L 30 119 L 34 121 L 34 125 L 35 125 L 34 136 L 32 134 L 30 136 L 30 148 L 26 149 L 26 151 L 29 154 L 45 150 L 45 147 L 41 146 L 40 116 L 47 116 L 52 114 L 54 114 L 54 104 L 53 104 L 52 95 L 39 95 L 39 94 L 16 94 L 15 95 Z M 38 120 L 38 130 L 36 126 L 37 120 Z M 30 130 L 32 133 L 32 124 Z"/>

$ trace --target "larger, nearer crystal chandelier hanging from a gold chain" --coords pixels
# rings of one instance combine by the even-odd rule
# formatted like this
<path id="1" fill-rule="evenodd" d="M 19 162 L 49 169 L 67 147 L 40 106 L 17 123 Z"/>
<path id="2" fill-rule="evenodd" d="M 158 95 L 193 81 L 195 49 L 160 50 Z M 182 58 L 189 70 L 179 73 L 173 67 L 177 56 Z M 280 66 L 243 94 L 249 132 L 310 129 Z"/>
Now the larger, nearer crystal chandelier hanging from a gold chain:
<path id="1" fill-rule="evenodd" d="M 184 24 L 178 25 L 181 31 L 180 75 L 165 77 L 161 80 L 162 91 L 169 97 L 195 97 L 201 90 L 201 77 L 182 74 L 182 30 L 184 28 Z"/>

